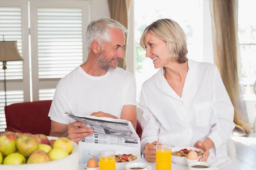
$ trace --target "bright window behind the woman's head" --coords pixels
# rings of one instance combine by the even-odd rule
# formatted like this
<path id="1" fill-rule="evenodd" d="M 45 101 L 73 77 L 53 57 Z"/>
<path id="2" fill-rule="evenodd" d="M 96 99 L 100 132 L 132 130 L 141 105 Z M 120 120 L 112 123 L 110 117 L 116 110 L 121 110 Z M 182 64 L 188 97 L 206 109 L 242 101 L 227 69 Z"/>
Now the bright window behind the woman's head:
<path id="1" fill-rule="evenodd" d="M 198 60 L 200 54 L 197 44 L 201 40 L 200 28 L 198 28 L 201 26 L 200 0 L 134 0 L 134 16 L 136 16 L 134 34 L 137 57 L 137 102 L 139 102 L 143 82 L 158 71 L 154 68 L 152 60 L 145 57 L 145 50 L 140 47 L 140 37 L 144 29 L 157 19 L 175 20 L 186 34 L 188 58 Z"/>

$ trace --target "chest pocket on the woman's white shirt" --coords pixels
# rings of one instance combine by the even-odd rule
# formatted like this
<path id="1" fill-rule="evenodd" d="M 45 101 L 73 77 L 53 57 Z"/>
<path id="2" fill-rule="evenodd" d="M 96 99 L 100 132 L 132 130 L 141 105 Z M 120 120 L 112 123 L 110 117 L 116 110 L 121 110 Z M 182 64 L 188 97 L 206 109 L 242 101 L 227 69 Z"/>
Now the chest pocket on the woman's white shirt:
<path id="1" fill-rule="evenodd" d="M 196 124 L 198 126 L 206 126 L 210 124 L 212 117 L 212 102 L 203 102 L 194 105 Z"/>

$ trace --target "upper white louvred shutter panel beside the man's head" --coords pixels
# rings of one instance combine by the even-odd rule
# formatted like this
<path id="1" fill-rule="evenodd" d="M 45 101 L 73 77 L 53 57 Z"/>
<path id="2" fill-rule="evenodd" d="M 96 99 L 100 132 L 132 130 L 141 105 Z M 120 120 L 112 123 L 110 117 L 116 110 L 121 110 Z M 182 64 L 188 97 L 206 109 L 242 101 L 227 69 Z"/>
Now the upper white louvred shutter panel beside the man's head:
<path id="1" fill-rule="evenodd" d="M 37 8 L 38 78 L 62 78 L 83 62 L 82 9 Z"/>

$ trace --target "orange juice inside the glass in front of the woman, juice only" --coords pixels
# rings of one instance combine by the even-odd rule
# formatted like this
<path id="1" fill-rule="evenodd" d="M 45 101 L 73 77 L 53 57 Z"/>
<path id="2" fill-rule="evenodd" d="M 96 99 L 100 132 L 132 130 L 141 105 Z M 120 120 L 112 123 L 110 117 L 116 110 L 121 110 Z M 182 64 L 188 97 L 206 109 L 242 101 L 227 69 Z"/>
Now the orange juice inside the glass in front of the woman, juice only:
<path id="1" fill-rule="evenodd" d="M 157 170 L 172 170 L 172 150 L 157 149 Z"/>

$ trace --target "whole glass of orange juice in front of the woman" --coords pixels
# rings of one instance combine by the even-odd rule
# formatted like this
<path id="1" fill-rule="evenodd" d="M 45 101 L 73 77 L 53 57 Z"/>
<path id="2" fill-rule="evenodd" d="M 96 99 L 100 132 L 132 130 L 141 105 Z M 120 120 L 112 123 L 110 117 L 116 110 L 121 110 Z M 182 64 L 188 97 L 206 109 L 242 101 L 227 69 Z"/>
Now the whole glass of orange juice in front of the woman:
<path id="1" fill-rule="evenodd" d="M 172 170 L 172 148 L 168 142 L 157 143 L 157 170 Z"/>

